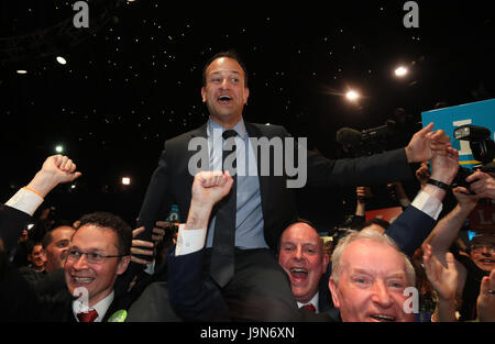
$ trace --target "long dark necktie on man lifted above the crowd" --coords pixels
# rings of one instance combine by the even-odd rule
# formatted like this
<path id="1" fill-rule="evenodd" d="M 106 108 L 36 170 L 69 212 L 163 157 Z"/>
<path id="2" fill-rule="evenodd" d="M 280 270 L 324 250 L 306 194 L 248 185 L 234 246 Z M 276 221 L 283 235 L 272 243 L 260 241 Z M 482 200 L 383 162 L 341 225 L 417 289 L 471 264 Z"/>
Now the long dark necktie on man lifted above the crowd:
<path id="1" fill-rule="evenodd" d="M 227 130 L 222 136 L 227 141 L 237 136 L 234 130 Z M 235 154 L 235 145 L 232 151 L 223 149 L 222 169 L 226 170 L 226 158 Z M 232 167 L 235 168 L 235 160 L 231 159 Z M 229 166 L 227 166 L 229 167 Z M 230 171 L 230 170 L 229 170 Z M 234 246 L 235 246 L 235 213 L 237 213 L 237 176 L 231 173 L 233 178 L 232 189 L 217 204 L 217 220 L 215 223 L 213 247 L 211 251 L 210 276 L 223 288 L 234 275 Z"/>

